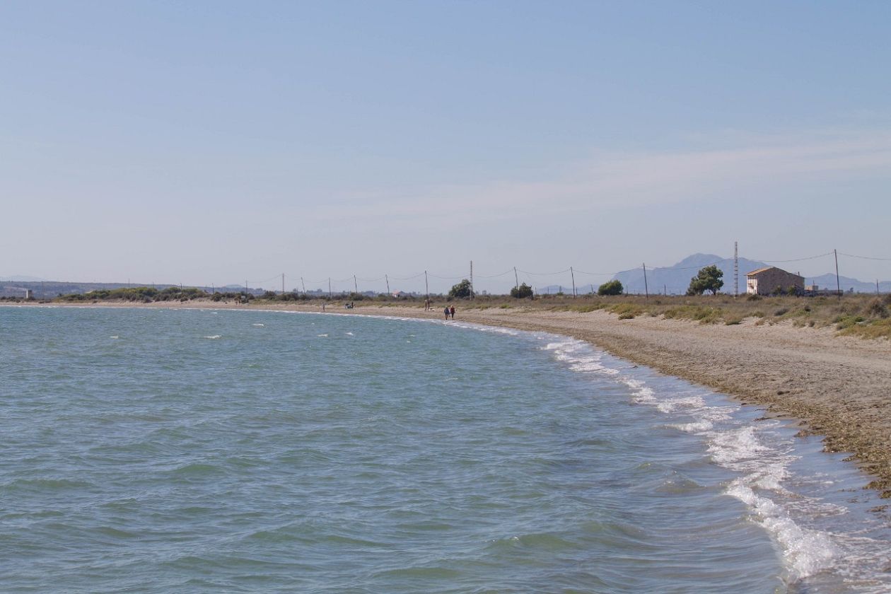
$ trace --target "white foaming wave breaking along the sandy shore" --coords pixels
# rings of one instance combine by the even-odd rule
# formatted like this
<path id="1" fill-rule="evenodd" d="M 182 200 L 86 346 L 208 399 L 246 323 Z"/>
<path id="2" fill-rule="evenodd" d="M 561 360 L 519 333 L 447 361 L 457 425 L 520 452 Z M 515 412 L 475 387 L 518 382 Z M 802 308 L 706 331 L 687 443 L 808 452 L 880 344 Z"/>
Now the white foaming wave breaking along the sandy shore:
<path id="1" fill-rule="evenodd" d="M 800 582 L 824 570 L 844 566 L 854 558 L 871 557 L 870 562 L 875 564 L 875 552 L 870 553 L 863 546 L 854 549 L 839 544 L 849 541 L 849 534 L 804 525 L 812 523 L 814 517 L 830 513 L 825 508 L 833 505 L 787 488 L 789 466 L 799 457 L 789 453 L 791 443 L 773 435 L 780 427 L 779 421 L 752 425 L 751 420 L 735 414 L 740 411 L 739 405 L 707 402 L 714 394 L 705 388 L 678 390 L 670 386 L 658 390 L 645 379 L 650 373 L 646 368 L 631 372 L 619 369 L 617 360 L 607 361 L 608 355 L 575 338 L 552 339 L 544 350 L 551 351 L 554 359 L 569 370 L 594 373 L 624 385 L 633 403 L 651 406 L 669 417 L 681 417 L 665 427 L 699 435 L 709 458 L 738 475 L 724 492 L 742 501 L 750 518 L 778 545 L 788 582 Z M 867 541 L 875 547 L 875 541 Z"/>

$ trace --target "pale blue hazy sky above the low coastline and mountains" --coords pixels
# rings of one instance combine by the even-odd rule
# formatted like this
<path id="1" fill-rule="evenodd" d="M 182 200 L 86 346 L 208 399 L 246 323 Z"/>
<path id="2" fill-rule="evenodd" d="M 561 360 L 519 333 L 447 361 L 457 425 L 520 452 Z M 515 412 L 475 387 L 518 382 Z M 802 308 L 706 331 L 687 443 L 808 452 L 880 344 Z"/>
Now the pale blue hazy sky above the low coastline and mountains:
<path id="1" fill-rule="evenodd" d="M 883 1 L 11 0 L 0 277 L 441 291 L 472 260 L 503 292 L 514 266 L 596 284 L 734 241 L 891 258 L 889 23 Z"/>

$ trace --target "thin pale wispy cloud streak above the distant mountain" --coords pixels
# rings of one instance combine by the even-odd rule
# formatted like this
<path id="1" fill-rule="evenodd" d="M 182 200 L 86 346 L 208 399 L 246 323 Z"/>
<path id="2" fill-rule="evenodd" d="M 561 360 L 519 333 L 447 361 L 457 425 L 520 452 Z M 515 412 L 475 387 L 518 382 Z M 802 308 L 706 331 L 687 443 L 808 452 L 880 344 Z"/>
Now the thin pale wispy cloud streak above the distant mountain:
<path id="1" fill-rule="evenodd" d="M 535 216 L 544 206 L 552 213 L 581 214 L 593 208 L 697 201 L 732 192 L 743 183 L 788 190 L 814 180 L 889 171 L 888 132 L 761 137 L 699 151 L 601 153 L 552 179 L 535 182 L 454 184 L 419 189 L 411 196 L 355 194 L 338 200 L 348 207 L 320 207 L 316 214 L 339 219 L 440 219 L 447 207 L 450 216 L 444 224 L 462 224 Z"/>

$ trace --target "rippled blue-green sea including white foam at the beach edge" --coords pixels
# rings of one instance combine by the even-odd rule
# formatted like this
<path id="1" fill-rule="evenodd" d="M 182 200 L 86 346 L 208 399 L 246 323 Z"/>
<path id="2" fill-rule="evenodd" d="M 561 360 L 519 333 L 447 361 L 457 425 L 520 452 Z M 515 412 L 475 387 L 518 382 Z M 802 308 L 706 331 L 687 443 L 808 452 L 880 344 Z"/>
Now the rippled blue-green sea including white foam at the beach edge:
<path id="1" fill-rule="evenodd" d="M 457 322 L 0 307 L 4 592 L 887 592 L 763 411 Z"/>

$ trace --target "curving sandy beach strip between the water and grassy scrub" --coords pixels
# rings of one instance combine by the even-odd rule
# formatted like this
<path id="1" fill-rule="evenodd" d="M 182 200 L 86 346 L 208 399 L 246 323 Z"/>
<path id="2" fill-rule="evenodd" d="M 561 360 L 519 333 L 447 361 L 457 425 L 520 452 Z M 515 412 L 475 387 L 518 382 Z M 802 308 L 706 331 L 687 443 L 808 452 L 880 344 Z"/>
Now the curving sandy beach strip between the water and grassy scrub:
<path id="1" fill-rule="evenodd" d="M 9 306 L 234 309 L 322 313 L 319 305 L 236 305 L 211 301 Z M 440 305 L 441 307 L 441 305 Z M 324 313 L 441 320 L 421 306 L 331 305 Z M 829 452 L 850 459 L 875 479 L 868 488 L 891 497 L 891 343 L 835 336 L 789 324 L 701 325 L 662 318 L 618 320 L 594 311 L 532 308 L 463 309 L 460 321 L 545 331 L 584 340 L 609 354 L 710 387 L 772 416 L 800 419 L 803 433 L 822 435 Z"/>

